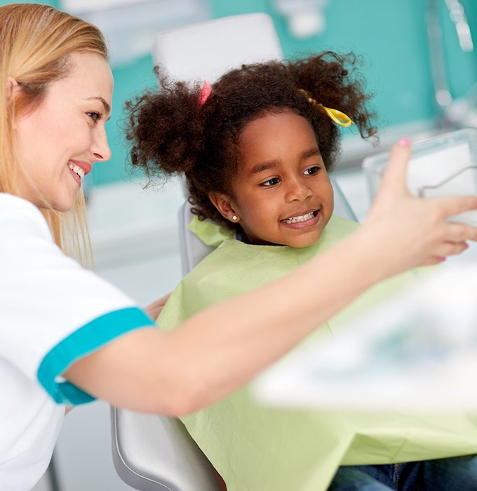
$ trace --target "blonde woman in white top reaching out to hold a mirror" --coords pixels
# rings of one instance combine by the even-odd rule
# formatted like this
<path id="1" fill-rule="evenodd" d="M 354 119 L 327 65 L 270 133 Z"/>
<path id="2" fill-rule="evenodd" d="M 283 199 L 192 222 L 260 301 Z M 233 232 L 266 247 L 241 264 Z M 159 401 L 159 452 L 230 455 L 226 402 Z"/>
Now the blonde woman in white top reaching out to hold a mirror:
<path id="1" fill-rule="evenodd" d="M 126 295 L 62 252 L 84 250 L 81 180 L 110 154 L 113 81 L 102 35 L 47 6 L 3 6 L 0 19 L 2 489 L 29 489 L 39 479 L 63 405 L 96 397 L 168 415 L 201 408 L 248 382 L 372 283 L 477 239 L 476 229 L 445 222 L 477 208 L 477 198 L 429 201 L 405 191 L 410 144 L 402 140 L 359 231 L 306 268 L 161 332 Z M 319 295 L 316 271 L 328 285 Z"/>

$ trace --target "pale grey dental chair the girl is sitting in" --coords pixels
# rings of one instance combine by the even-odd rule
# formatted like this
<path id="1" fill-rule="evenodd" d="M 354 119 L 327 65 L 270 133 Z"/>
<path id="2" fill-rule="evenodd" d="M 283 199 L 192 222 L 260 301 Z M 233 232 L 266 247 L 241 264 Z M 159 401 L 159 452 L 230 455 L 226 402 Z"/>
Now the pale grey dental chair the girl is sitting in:
<path id="1" fill-rule="evenodd" d="M 273 21 L 263 13 L 235 15 L 160 32 L 154 64 L 171 79 L 213 83 L 243 63 L 283 58 Z M 356 220 L 332 180 L 335 214 Z M 187 229 L 192 218 L 184 189 L 179 213 L 182 273 L 187 274 L 212 248 Z M 112 408 L 112 447 L 116 471 L 141 491 L 219 491 L 212 464 L 179 419 Z"/>

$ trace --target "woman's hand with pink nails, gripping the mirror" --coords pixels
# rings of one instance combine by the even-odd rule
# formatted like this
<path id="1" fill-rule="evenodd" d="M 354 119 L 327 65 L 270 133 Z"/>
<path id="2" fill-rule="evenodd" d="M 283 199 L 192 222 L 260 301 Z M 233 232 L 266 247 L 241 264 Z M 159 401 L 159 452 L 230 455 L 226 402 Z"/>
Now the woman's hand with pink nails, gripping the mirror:
<path id="1" fill-rule="evenodd" d="M 436 264 L 446 256 L 462 253 L 466 241 L 477 241 L 477 228 L 447 219 L 477 209 L 477 196 L 423 199 L 412 196 L 406 187 L 410 140 L 401 139 L 391 149 L 384 173 L 363 230 L 374 229 L 375 240 L 389 255 L 394 274 L 412 267 Z"/>

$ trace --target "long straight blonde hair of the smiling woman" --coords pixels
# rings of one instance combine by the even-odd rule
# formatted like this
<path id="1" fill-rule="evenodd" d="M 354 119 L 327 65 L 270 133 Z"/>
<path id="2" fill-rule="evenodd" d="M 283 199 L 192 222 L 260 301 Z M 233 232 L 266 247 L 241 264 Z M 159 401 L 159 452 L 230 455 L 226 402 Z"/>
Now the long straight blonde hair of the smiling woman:
<path id="1" fill-rule="evenodd" d="M 35 109 L 48 84 L 67 76 L 69 55 L 78 51 L 98 53 L 107 60 L 98 27 L 49 6 L 0 6 L 0 192 L 18 194 L 21 180 L 28 178 L 21 173 L 13 144 L 15 117 Z M 9 76 L 21 88 L 14 102 L 7 93 Z M 41 211 L 55 242 L 85 262 L 90 245 L 83 194 L 69 212 L 55 211 L 48 203 Z"/>

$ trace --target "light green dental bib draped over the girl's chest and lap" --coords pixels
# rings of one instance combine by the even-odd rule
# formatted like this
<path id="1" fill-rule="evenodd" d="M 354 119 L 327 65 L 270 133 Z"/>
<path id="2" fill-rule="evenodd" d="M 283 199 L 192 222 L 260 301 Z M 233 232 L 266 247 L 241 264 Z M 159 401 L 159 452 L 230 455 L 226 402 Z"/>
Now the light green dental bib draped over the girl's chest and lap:
<path id="1" fill-rule="evenodd" d="M 173 329 L 212 304 L 274 281 L 356 227 L 333 216 L 317 243 L 295 249 L 241 243 L 217 226 L 194 220 L 190 228 L 199 238 L 220 245 L 177 285 L 158 323 Z M 407 273 L 375 285 L 312 336 L 330 335 L 362 309 L 413 281 L 415 274 Z M 326 285 L 317 277 L 317 296 L 322 288 Z M 255 401 L 248 386 L 182 422 L 229 491 L 321 491 L 340 465 L 477 453 L 477 417 L 269 408 Z"/>

